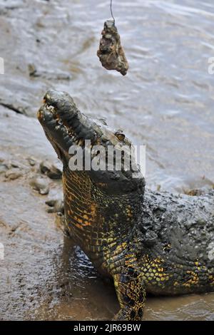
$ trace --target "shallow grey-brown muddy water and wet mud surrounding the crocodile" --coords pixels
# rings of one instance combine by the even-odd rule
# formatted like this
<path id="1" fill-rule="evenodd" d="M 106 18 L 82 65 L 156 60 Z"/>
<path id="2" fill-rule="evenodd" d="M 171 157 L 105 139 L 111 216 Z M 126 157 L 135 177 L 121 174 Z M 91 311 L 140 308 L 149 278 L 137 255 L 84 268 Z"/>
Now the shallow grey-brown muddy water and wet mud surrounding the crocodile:
<path id="1" fill-rule="evenodd" d="M 104 70 L 96 57 L 108 2 L 0 1 L 0 158 L 3 165 L 16 160 L 22 171 L 17 180 L 0 175 L 0 319 L 110 319 L 118 309 L 111 283 L 46 212 L 59 183 L 49 180 L 46 196 L 29 186 L 37 172 L 29 156 L 56 159 L 34 119 L 48 88 L 68 91 L 81 110 L 146 144 L 153 189 L 213 187 L 213 0 L 114 1 L 130 63 L 124 78 Z M 145 318 L 214 319 L 213 301 L 213 294 L 151 297 Z"/>

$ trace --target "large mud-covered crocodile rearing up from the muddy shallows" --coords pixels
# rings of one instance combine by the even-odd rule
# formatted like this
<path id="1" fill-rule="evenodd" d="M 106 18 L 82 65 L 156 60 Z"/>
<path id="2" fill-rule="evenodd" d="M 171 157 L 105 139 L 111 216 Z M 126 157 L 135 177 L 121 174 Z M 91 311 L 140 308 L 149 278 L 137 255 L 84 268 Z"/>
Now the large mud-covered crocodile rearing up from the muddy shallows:
<path id="1" fill-rule="evenodd" d="M 214 191 L 151 192 L 132 168 L 73 171 L 72 145 L 86 155 L 85 140 L 92 150 L 131 142 L 81 113 L 67 93 L 47 92 L 38 118 L 63 163 L 66 230 L 98 271 L 113 278 L 121 305 L 116 320 L 141 320 L 146 292 L 214 291 Z"/>

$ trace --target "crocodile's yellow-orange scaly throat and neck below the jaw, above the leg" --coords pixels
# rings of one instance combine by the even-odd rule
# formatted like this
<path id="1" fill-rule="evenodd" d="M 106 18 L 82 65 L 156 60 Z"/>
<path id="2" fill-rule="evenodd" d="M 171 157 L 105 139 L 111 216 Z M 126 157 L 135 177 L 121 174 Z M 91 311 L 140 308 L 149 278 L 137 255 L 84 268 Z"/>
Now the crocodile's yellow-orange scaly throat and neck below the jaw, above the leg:
<path id="1" fill-rule="evenodd" d="M 86 172 L 64 167 L 63 194 L 66 229 L 96 267 L 106 260 L 107 250 L 111 254 L 118 244 L 131 240 L 142 209 L 138 193 L 108 195 Z"/>

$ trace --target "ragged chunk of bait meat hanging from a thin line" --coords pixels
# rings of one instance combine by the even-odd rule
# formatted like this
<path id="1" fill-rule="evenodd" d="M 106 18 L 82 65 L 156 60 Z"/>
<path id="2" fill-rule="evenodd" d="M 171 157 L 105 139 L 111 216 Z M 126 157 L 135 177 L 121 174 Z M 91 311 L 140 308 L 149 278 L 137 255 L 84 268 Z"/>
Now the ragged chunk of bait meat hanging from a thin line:
<path id="1" fill-rule="evenodd" d="M 113 20 L 104 23 L 97 56 L 106 70 L 116 70 L 126 76 L 128 61 L 121 46 L 121 37 Z"/>

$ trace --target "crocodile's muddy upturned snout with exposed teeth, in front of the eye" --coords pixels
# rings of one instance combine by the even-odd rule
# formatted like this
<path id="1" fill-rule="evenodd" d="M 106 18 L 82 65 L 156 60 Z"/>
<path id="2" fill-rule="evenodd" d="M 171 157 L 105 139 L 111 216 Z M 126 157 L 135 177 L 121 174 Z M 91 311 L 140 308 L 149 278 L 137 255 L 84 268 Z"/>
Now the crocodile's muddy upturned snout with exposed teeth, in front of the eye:
<path id="1" fill-rule="evenodd" d="M 61 144 L 68 151 L 69 146 L 78 144 L 80 139 L 96 140 L 93 121 L 81 113 L 71 96 L 66 92 L 48 91 L 39 108 L 38 118 L 46 135 Z M 64 143 L 63 143 L 64 142 Z"/>

